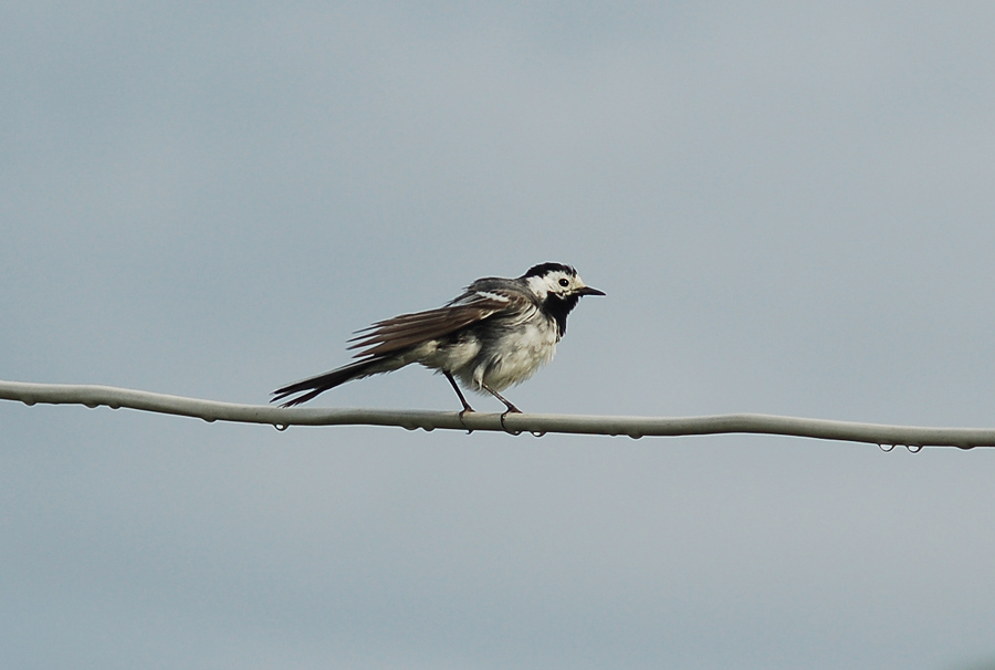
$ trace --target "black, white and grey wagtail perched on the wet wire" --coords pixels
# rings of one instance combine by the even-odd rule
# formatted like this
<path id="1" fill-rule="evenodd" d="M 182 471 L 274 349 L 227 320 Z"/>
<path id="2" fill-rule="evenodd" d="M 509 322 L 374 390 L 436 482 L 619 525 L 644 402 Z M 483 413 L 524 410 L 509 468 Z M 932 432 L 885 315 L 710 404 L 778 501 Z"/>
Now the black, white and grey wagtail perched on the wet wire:
<path id="1" fill-rule="evenodd" d="M 438 310 L 401 314 L 357 331 L 350 349 L 358 360 L 329 373 L 273 391 L 271 402 L 293 407 L 353 379 L 389 373 L 420 363 L 446 375 L 463 404 L 473 411 L 453 377 L 470 389 L 486 391 L 510 412 L 521 410 L 501 396 L 525 381 L 556 353 L 566 333 L 566 317 L 582 295 L 605 295 L 580 281 L 577 271 L 543 263 L 517 279 L 489 276 Z M 505 412 L 507 413 L 507 412 Z"/>

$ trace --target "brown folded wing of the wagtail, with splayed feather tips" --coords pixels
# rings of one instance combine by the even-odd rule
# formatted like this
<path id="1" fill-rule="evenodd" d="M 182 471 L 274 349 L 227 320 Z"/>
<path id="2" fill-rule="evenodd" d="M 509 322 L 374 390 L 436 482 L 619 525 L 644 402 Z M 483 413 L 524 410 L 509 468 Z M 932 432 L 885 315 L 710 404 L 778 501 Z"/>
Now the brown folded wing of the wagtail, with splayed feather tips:
<path id="1" fill-rule="evenodd" d="M 367 328 L 357 331 L 359 335 L 349 339 L 355 344 L 348 348 L 365 349 L 357 353 L 356 358 L 392 354 L 428 339 L 443 337 L 494 314 L 520 308 L 524 300 L 503 292 L 486 295 L 468 293 L 438 310 L 401 314 L 378 321 Z"/>

